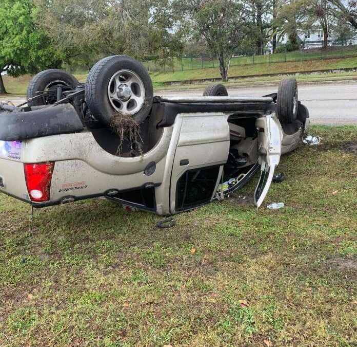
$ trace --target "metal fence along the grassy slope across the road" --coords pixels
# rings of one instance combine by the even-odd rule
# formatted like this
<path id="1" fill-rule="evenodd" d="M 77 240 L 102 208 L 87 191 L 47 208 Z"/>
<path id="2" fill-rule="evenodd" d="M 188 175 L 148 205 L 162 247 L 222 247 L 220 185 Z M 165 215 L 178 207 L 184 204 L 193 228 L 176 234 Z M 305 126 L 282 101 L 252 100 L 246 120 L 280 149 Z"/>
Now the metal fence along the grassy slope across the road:
<path id="1" fill-rule="evenodd" d="M 323 41 L 314 41 L 295 46 L 279 45 L 274 53 L 272 47 L 236 52 L 230 60 L 230 66 L 357 57 L 357 38 L 346 41 L 329 40 L 327 47 L 323 46 Z M 151 72 L 174 72 L 219 66 L 217 59 L 209 53 L 168 59 L 152 58 L 142 63 Z"/>

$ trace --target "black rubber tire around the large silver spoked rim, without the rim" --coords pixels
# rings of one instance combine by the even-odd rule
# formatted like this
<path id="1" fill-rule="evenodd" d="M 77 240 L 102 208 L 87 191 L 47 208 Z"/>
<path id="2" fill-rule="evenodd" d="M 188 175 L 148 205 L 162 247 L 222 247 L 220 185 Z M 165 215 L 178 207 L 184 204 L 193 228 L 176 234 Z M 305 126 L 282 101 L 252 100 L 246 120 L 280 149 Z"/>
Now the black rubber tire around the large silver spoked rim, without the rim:
<path id="1" fill-rule="evenodd" d="M 128 56 L 110 56 L 98 61 L 89 71 L 86 82 L 86 102 L 93 116 L 110 125 L 115 109 L 108 96 L 110 79 L 117 71 L 134 72 L 143 82 L 145 99 L 142 107 L 131 117 L 140 123 L 149 115 L 153 101 L 151 78 L 145 67 L 137 60 Z"/>

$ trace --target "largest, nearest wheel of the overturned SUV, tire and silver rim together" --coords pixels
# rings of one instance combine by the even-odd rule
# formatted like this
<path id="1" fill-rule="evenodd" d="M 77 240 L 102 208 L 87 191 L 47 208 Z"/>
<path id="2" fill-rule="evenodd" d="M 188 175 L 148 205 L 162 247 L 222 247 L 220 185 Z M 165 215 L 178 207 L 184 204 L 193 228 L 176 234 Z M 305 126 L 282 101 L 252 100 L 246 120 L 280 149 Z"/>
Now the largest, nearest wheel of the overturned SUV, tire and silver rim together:
<path id="1" fill-rule="evenodd" d="M 114 115 L 130 116 L 137 123 L 150 113 L 153 87 L 145 67 L 127 56 L 98 61 L 89 71 L 86 102 L 93 116 L 111 125 Z"/>

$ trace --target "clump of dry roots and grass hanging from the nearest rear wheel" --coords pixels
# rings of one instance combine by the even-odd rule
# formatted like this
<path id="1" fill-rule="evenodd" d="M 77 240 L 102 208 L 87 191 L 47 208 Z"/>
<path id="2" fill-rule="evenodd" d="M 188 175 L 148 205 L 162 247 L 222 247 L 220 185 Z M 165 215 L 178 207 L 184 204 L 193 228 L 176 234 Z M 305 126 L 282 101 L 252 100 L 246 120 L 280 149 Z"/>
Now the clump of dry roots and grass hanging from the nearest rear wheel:
<path id="1" fill-rule="evenodd" d="M 140 136 L 140 127 L 131 115 L 116 112 L 111 118 L 110 125 L 120 137 L 116 155 L 121 155 L 125 139 L 130 142 L 131 152 L 135 155 L 143 155 L 143 140 Z"/>

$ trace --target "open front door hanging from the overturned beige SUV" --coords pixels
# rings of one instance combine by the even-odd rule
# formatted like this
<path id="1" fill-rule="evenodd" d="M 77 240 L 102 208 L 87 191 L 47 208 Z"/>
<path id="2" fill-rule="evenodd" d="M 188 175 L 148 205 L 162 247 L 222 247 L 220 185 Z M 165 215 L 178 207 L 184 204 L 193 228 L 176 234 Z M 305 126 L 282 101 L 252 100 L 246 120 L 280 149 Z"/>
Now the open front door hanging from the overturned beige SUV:
<path id="1" fill-rule="evenodd" d="M 255 126 L 258 129 L 261 176 L 254 192 L 254 205 L 260 207 L 268 193 L 274 170 L 280 161 L 283 132 L 275 114 L 257 118 Z"/>

